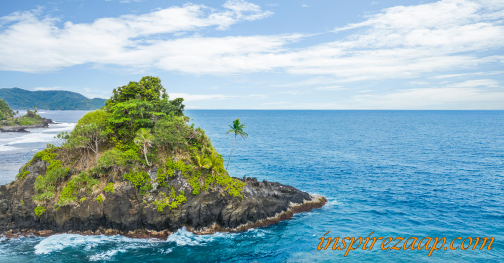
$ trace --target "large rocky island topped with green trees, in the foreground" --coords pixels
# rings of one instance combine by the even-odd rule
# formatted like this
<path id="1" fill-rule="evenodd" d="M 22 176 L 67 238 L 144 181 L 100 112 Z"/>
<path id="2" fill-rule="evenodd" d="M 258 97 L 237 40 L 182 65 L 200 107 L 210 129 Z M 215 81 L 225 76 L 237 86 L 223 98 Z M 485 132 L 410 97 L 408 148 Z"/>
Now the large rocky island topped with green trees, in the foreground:
<path id="1" fill-rule="evenodd" d="M 291 186 L 230 177 L 200 128 L 188 125 L 182 99 L 160 79 L 113 90 L 0 187 L 0 233 L 121 234 L 166 238 L 236 232 L 289 219 L 327 200 Z"/>

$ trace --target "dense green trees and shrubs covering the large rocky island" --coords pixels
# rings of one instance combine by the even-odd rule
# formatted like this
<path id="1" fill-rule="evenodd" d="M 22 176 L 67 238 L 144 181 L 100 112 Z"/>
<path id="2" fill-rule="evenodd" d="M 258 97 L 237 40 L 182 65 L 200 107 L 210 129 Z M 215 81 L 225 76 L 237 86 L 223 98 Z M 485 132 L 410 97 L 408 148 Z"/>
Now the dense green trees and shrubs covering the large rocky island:
<path id="1" fill-rule="evenodd" d="M 160 212 L 210 188 L 241 197 L 244 183 L 229 177 L 205 132 L 188 125 L 182 102 L 169 100 L 158 77 L 118 87 L 101 110 L 87 113 L 71 133 L 57 136 L 60 147 L 48 145 L 37 153 L 17 180 L 25 180 L 33 161 L 46 161 L 33 200 L 54 209 L 88 198 L 106 202 L 118 184 L 134 187 L 142 203 Z M 154 179 L 149 172 L 155 172 Z M 168 183 L 175 176 L 184 177 L 192 192 L 176 191 Z"/>

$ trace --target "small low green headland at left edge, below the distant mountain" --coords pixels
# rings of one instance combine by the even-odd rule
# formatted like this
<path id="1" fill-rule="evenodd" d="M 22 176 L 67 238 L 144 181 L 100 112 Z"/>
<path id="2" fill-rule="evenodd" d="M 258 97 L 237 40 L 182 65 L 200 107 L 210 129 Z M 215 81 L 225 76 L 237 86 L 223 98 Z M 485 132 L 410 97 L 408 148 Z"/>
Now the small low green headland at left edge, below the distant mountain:
<path id="1" fill-rule="evenodd" d="M 4 100 L 0 100 L 0 132 L 29 132 L 25 129 L 48 128 L 52 123 L 52 120 L 37 115 L 36 108 L 27 110 L 23 116 L 14 117 L 15 114 Z"/>

